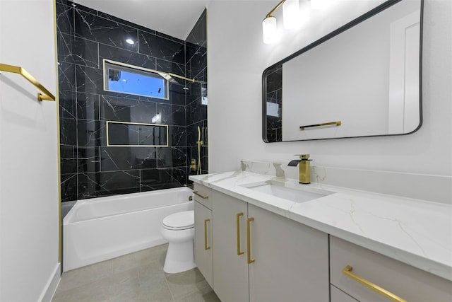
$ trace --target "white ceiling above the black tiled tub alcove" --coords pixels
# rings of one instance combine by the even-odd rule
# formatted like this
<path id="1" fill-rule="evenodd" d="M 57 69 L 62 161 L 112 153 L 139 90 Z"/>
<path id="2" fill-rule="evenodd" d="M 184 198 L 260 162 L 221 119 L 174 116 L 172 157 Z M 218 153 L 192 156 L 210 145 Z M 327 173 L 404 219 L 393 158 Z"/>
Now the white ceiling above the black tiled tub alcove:
<path id="1" fill-rule="evenodd" d="M 211 0 L 75 0 L 75 3 L 186 40 Z"/>

